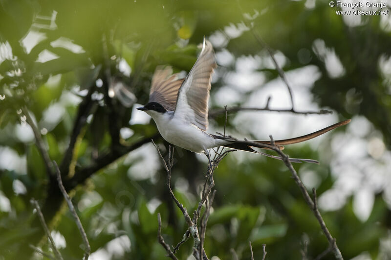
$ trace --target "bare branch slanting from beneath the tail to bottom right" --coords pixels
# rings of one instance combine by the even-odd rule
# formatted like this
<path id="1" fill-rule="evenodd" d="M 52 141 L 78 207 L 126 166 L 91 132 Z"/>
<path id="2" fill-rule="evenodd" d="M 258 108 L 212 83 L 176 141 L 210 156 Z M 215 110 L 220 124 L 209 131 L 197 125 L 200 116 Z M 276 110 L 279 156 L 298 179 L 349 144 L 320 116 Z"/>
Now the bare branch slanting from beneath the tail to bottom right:
<path id="1" fill-rule="evenodd" d="M 271 141 L 272 144 L 274 144 L 274 140 L 273 140 L 272 136 L 270 136 L 270 141 Z M 321 226 L 321 229 L 322 229 L 323 233 L 325 234 L 325 236 L 326 236 L 326 238 L 328 240 L 329 245 L 332 247 L 332 249 L 334 251 L 335 258 L 338 259 L 338 260 L 343 260 L 341 251 L 339 250 L 339 248 L 338 248 L 338 246 L 336 244 L 336 240 L 331 236 L 330 231 L 328 231 L 328 229 L 327 229 L 325 220 L 323 220 L 322 215 L 319 212 L 317 199 L 316 199 L 316 190 L 315 190 L 315 188 L 313 188 L 313 190 L 312 190 L 313 193 L 314 193 L 314 201 L 313 201 L 311 199 L 311 197 L 309 196 L 309 194 L 307 192 L 307 189 L 305 188 L 302 180 L 300 180 L 300 177 L 297 175 L 296 170 L 293 168 L 292 163 L 289 161 L 289 157 L 287 155 L 285 155 L 281 151 L 280 147 L 278 147 L 276 145 L 274 145 L 272 149 L 274 151 L 276 151 L 281 156 L 282 161 L 285 163 L 286 167 L 288 167 L 289 171 L 291 172 L 291 175 L 292 175 L 293 179 L 295 180 L 296 184 L 299 186 L 299 188 L 300 188 L 300 190 L 301 190 L 301 192 L 303 194 L 305 202 L 307 203 L 307 205 L 311 209 L 311 211 L 314 214 L 315 218 L 318 220 L 318 222 L 319 222 L 319 224 Z"/>

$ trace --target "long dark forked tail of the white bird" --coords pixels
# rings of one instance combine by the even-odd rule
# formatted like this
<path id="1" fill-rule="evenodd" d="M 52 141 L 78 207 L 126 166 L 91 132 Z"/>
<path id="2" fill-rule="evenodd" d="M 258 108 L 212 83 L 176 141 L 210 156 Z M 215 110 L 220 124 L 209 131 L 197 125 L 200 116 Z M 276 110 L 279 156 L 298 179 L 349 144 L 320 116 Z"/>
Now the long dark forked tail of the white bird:
<path id="1" fill-rule="evenodd" d="M 284 140 L 275 140 L 274 144 L 280 146 L 283 149 L 283 146 L 281 146 L 281 145 L 293 144 L 293 143 L 298 143 L 298 142 L 303 142 L 303 141 L 306 141 L 306 140 L 313 139 L 313 138 L 318 137 L 320 135 L 323 135 L 323 134 L 327 133 L 328 131 L 331 131 L 331 130 L 339 127 L 339 126 L 346 125 L 350 121 L 351 121 L 350 119 L 344 120 L 344 121 L 335 123 L 333 125 L 327 126 L 327 127 L 323 128 L 323 129 L 321 129 L 319 131 L 313 132 L 313 133 L 308 134 L 308 135 L 295 137 L 295 138 L 290 138 L 290 139 L 284 139 Z M 231 138 L 228 138 L 228 137 L 221 137 L 221 136 L 216 136 L 216 135 L 213 135 L 213 136 L 215 138 L 217 138 L 217 139 L 233 141 L 232 143 L 224 145 L 225 147 L 232 148 L 232 149 L 238 149 L 238 150 L 242 150 L 242 151 L 247 151 L 247 152 L 252 152 L 252 153 L 258 153 L 258 154 L 261 154 L 261 155 L 264 155 L 264 156 L 267 156 L 267 157 L 270 157 L 270 158 L 282 160 L 282 158 L 279 157 L 279 156 L 274 156 L 274 155 L 269 155 L 269 154 L 266 154 L 266 153 L 262 153 L 262 152 L 254 150 L 252 148 L 252 147 L 258 147 L 258 148 L 261 148 L 261 149 L 268 149 L 268 148 L 265 148 L 263 145 L 264 144 L 271 145 L 270 141 L 234 140 L 234 139 L 231 139 Z M 257 145 L 257 144 L 259 144 L 259 145 Z M 301 163 L 301 162 L 319 163 L 317 160 L 311 160 L 311 159 L 289 158 L 289 160 L 291 162 L 298 162 L 298 163 Z"/>

